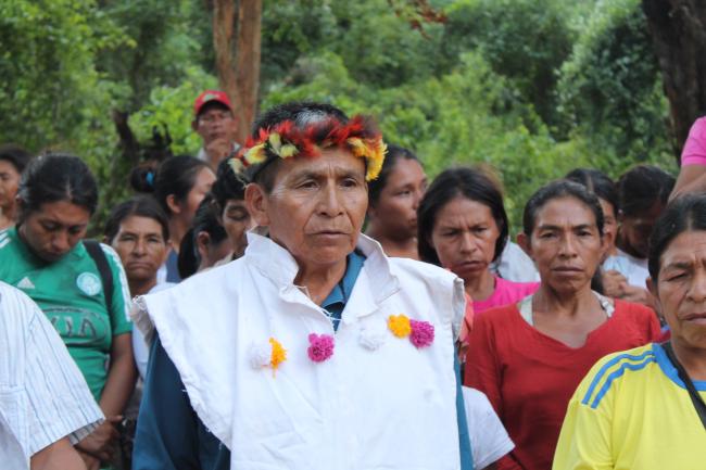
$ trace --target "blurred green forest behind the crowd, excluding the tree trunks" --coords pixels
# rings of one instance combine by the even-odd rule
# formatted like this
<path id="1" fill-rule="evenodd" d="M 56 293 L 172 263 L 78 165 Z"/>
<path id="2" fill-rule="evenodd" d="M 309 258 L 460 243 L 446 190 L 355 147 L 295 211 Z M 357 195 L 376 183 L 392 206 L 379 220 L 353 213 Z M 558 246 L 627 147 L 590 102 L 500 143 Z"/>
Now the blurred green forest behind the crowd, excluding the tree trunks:
<path id="1" fill-rule="evenodd" d="M 398 2 L 399 3 L 399 2 Z M 259 107 L 371 113 L 430 176 L 489 164 L 519 229 L 528 196 L 575 167 L 678 172 L 669 103 L 639 0 L 266 0 Z M 210 7 L 211 5 L 211 7 Z M 209 0 L 0 2 L 0 142 L 84 157 L 101 208 L 138 160 L 196 154 L 192 102 L 217 88 Z M 168 140 L 166 139 L 168 134 Z"/>

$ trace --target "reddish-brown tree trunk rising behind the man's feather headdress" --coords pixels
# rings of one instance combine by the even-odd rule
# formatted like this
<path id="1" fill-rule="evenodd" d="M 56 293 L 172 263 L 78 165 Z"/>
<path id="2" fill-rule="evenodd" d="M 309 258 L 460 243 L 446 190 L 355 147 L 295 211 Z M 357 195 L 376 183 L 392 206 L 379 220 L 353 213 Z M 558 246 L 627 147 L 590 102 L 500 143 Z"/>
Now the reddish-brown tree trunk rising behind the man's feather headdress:
<path id="1" fill-rule="evenodd" d="M 262 0 L 214 0 L 213 46 L 220 88 L 228 93 L 241 142 L 257 110 Z"/>

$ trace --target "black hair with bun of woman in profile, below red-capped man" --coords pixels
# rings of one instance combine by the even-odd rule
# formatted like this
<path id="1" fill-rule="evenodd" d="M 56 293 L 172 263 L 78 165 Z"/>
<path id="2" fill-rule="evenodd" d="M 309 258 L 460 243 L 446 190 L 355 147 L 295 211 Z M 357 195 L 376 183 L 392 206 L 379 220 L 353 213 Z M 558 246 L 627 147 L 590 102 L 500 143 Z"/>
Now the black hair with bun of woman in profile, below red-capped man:
<path id="1" fill-rule="evenodd" d="M 138 192 L 153 193 L 164 212 L 172 214 L 167 196 L 174 194 L 177 201 L 184 201 L 203 168 L 209 168 L 209 165 L 193 156 L 169 156 L 156 169 L 146 165 L 134 168 L 130 185 Z"/>

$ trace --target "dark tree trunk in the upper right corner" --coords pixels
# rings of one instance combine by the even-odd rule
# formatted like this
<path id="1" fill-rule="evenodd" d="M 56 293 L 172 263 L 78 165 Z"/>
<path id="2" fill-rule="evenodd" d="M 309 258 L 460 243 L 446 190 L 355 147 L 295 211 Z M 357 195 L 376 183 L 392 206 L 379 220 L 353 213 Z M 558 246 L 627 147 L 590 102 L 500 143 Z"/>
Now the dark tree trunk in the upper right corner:
<path id="1" fill-rule="evenodd" d="M 679 154 L 692 123 L 706 114 L 706 2 L 642 0 L 669 99 Z"/>

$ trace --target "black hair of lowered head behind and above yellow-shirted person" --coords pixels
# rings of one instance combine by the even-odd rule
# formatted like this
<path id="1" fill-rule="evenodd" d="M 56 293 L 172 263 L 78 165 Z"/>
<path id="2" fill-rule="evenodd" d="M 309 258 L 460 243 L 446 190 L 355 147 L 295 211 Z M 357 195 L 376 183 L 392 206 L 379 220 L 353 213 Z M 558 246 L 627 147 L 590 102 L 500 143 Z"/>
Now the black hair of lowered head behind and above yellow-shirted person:
<path id="1" fill-rule="evenodd" d="M 638 165 L 618 180 L 618 199 L 623 216 L 633 217 L 650 211 L 656 203 L 666 205 L 676 179 L 654 165 Z"/>

